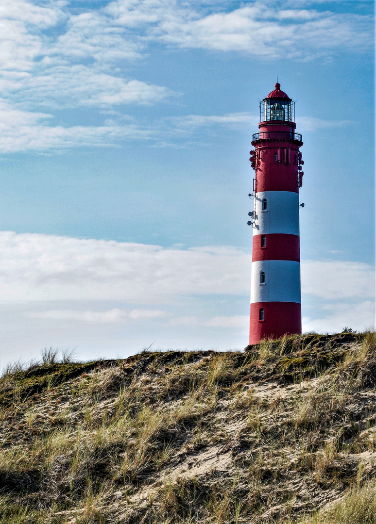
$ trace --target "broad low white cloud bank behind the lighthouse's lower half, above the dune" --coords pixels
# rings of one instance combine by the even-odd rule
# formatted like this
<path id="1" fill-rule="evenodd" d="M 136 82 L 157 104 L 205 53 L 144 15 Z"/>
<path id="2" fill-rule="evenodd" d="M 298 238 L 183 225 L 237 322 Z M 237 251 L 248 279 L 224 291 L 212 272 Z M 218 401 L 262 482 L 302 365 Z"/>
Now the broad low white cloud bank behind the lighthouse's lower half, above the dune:
<path id="1" fill-rule="evenodd" d="M 8 359 L 15 347 L 30 358 L 30 347 L 35 356 L 46 343 L 79 345 L 84 358 L 93 347 L 100 355 L 106 347 L 132 354 L 154 340 L 164 347 L 246 345 L 251 254 L 242 249 L 13 232 L 0 232 L 0 243 Z M 373 324 L 373 282 L 374 268 L 364 263 L 303 261 L 303 329 Z"/>

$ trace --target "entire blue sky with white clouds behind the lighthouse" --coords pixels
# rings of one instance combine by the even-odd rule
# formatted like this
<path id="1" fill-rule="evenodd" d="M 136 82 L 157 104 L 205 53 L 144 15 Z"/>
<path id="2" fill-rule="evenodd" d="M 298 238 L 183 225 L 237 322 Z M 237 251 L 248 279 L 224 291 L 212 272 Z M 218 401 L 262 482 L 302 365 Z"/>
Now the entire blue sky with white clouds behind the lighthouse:
<path id="1" fill-rule="evenodd" d="M 374 3 L 1 0 L 0 367 L 248 343 L 259 101 L 302 133 L 303 331 L 375 324 Z"/>

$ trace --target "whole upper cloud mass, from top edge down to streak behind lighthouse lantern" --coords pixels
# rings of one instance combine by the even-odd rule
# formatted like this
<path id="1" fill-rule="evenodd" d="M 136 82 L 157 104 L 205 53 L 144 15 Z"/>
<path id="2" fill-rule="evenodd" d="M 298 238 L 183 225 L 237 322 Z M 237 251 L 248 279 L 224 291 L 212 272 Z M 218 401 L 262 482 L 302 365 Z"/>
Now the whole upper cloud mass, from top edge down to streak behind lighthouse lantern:
<path id="1" fill-rule="evenodd" d="M 262 60 L 274 60 L 281 53 L 308 60 L 373 49 L 370 16 L 292 2 L 255 1 L 239 8 L 213 3 L 204 9 L 176 0 L 116 0 L 102 7 L 83 7 L 78 14 L 60 0 L 2 0 L 0 29 L 3 152 L 116 145 L 120 140 L 152 135 L 163 143 L 168 135 L 182 130 L 253 123 L 246 113 L 189 115 L 171 119 L 169 127 L 165 122 L 162 129 L 157 123 L 145 127 L 140 123 L 69 126 L 56 122 L 56 111 L 62 109 L 90 108 L 99 115 L 103 110 L 122 111 L 124 106 L 175 97 L 178 93 L 168 86 L 141 81 L 129 73 L 131 65 L 142 61 L 154 45 L 245 53 Z M 14 113 L 18 113 L 16 121 Z M 310 130 L 325 126 L 315 118 L 301 121 Z"/>

